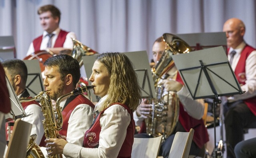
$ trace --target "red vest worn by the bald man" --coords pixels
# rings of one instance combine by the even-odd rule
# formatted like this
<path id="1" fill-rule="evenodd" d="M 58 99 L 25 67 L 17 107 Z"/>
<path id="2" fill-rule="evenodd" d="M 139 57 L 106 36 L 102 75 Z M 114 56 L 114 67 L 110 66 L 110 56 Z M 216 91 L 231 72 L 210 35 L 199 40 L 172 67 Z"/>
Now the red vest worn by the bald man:
<path id="1" fill-rule="evenodd" d="M 246 59 L 252 53 L 252 51 L 255 51 L 255 49 L 249 45 L 246 45 L 241 52 L 240 59 L 238 60 L 236 69 L 234 71 L 239 84 L 242 84 L 242 85 L 245 84 L 245 81 L 246 81 L 246 71 L 245 71 Z M 256 96 L 254 96 L 252 98 L 244 99 L 244 103 L 246 103 L 246 105 L 252 111 L 252 113 L 254 115 L 256 115 Z"/>

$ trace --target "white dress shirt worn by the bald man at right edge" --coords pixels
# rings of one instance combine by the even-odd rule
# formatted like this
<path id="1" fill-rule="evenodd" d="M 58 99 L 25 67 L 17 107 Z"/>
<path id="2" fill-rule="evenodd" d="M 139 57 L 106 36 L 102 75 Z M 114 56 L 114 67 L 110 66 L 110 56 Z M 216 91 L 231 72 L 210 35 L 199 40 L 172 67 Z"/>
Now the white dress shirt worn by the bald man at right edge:
<path id="1" fill-rule="evenodd" d="M 229 53 L 231 51 L 236 51 L 236 54 L 234 55 L 233 62 L 232 62 L 232 69 L 236 69 L 236 65 L 238 63 L 238 60 L 240 59 L 241 52 L 246 46 L 245 42 L 242 42 L 236 49 L 230 48 Z M 230 60 L 230 55 L 228 53 L 228 60 Z M 256 51 L 252 51 L 250 55 L 246 59 L 246 65 L 245 65 L 245 72 L 246 72 L 246 81 L 245 84 L 241 86 L 242 91 L 245 91 L 244 94 L 237 94 L 233 97 L 229 97 L 229 102 L 237 101 L 241 99 L 247 99 L 251 98 L 253 96 L 256 96 Z"/>

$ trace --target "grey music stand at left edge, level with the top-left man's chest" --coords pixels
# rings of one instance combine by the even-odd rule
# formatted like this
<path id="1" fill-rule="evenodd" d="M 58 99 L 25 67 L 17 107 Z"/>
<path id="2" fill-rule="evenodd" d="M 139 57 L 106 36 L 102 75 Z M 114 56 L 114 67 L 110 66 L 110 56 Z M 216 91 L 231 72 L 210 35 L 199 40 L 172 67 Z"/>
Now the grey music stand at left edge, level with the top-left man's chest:
<path id="1" fill-rule="evenodd" d="M 0 36 L 0 61 L 16 58 L 13 36 Z"/>

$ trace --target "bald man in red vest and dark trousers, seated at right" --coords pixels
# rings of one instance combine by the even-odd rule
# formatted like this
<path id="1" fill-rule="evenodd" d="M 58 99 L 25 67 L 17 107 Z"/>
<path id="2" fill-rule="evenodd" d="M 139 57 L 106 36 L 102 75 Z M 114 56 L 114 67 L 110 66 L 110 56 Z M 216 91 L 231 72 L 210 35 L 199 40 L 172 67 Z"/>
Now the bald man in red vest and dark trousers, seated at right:
<path id="1" fill-rule="evenodd" d="M 228 158 L 234 158 L 235 145 L 243 140 L 244 128 L 256 123 L 256 50 L 244 41 L 245 25 L 237 18 L 223 25 L 228 46 L 228 59 L 245 92 L 227 98 L 224 103 Z"/>

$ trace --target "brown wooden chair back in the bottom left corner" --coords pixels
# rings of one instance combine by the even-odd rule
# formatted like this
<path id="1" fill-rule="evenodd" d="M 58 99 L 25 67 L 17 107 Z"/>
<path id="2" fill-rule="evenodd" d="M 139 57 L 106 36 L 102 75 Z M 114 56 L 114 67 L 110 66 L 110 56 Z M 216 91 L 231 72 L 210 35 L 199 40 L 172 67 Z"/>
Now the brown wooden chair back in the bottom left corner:
<path id="1" fill-rule="evenodd" d="M 12 131 L 6 158 L 25 158 L 30 139 L 32 124 L 16 119 Z"/>

